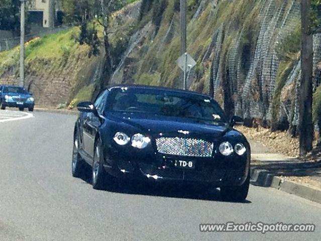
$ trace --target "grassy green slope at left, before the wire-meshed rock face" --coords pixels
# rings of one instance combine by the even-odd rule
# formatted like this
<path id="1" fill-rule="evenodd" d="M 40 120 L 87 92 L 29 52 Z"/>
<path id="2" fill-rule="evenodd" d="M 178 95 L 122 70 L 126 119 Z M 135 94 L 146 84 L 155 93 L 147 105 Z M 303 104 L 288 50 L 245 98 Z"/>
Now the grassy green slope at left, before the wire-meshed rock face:
<path id="1" fill-rule="evenodd" d="M 113 34 L 109 37 L 110 51 L 115 56 L 114 64 L 118 64 L 120 57 L 126 50 L 135 25 L 133 17 L 122 20 L 122 17 L 118 16 L 125 16 L 131 13 L 131 8 L 137 8 L 133 2 L 135 1 L 126 1 L 126 4 L 129 4 L 128 9 L 124 8 L 113 13 L 111 18 L 110 31 Z M 59 85 L 63 88 L 64 97 L 58 100 L 60 102 L 55 100 L 53 105 L 66 103 L 66 106 L 72 107 L 80 100 L 91 99 L 99 90 L 101 82 L 104 81 L 103 78 L 100 78 L 104 61 L 103 27 L 97 25 L 96 22 L 86 25 L 89 28 L 86 28 L 87 32 L 81 36 L 82 39 L 79 39 L 80 28 L 73 27 L 68 31 L 35 38 L 25 44 L 26 84 L 33 83 L 32 88 L 38 88 L 32 89 L 35 93 L 39 91 L 39 88 L 42 88 L 41 93 L 36 96 L 37 99 L 39 99 L 39 95 L 42 95 L 43 99 L 47 98 L 49 93 L 44 89 L 46 86 L 52 89 L 55 85 Z M 93 26 L 96 28 L 92 28 Z M 93 36 L 95 38 L 91 38 Z M 90 56 L 92 57 L 88 58 Z M 0 78 L 2 81 L 14 82 L 18 75 L 19 47 L 0 52 Z M 50 94 L 55 95 L 56 90 L 53 91 Z M 61 94 L 59 93 L 59 95 Z M 59 108 L 61 106 L 65 106 L 65 104 L 59 104 Z"/>

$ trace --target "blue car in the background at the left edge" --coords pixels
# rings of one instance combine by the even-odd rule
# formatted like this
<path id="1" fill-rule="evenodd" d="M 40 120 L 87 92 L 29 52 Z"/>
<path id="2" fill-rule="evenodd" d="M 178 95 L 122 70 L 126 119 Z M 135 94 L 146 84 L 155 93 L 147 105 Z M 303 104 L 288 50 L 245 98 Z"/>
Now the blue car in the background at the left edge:
<path id="1" fill-rule="evenodd" d="M 0 86 L 0 108 L 17 107 L 23 111 L 28 108 L 33 111 L 35 106 L 35 99 L 24 87 L 15 85 Z"/>

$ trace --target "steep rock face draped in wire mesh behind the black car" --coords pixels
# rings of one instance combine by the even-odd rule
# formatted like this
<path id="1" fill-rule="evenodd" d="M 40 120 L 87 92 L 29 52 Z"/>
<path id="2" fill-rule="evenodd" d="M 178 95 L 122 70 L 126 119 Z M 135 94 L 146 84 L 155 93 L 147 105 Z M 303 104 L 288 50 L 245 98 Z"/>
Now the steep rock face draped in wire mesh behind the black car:
<path id="1" fill-rule="evenodd" d="M 113 83 L 182 86 L 175 64 L 177 1 L 153 2 L 165 8 L 143 13 Z M 297 125 L 300 1 L 195 0 L 188 1 L 188 16 L 188 52 L 197 61 L 188 74 L 189 88 L 210 94 L 230 115 L 249 122 L 280 129 Z M 320 81 L 320 40 L 314 36 L 314 89 Z"/>

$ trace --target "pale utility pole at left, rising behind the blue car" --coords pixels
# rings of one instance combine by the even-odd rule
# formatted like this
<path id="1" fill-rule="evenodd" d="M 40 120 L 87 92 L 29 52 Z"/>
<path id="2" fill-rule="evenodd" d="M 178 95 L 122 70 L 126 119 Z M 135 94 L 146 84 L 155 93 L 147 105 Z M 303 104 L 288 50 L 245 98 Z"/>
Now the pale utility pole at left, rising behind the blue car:
<path id="1" fill-rule="evenodd" d="M 25 5 L 26 0 L 20 0 L 20 85 L 25 85 Z"/>

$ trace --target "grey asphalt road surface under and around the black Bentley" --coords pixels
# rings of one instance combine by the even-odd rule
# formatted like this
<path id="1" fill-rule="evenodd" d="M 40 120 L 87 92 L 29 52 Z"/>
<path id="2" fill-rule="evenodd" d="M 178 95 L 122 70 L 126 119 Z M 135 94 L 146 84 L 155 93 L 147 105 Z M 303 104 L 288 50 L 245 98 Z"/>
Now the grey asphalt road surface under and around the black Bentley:
<path id="1" fill-rule="evenodd" d="M 0 111 L 2 113 L 2 111 Z M 73 178 L 74 115 L 34 112 L 0 123 L 0 241 L 5 240 L 320 240 L 321 205 L 250 187 L 245 203 L 218 191 L 146 190 L 123 184 L 93 190 Z M 314 233 L 218 233 L 199 223 L 314 223 Z"/>

